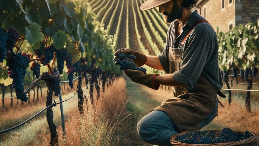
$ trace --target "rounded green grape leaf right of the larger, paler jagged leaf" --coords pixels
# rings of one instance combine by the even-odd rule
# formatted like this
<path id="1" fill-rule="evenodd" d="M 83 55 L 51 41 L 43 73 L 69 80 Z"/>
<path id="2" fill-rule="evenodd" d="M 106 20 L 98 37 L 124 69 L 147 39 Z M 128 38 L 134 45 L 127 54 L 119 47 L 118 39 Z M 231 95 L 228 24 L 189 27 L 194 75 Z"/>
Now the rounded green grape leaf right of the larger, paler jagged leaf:
<path id="1" fill-rule="evenodd" d="M 52 36 L 52 40 L 56 49 L 62 49 L 65 45 L 65 42 L 68 40 L 68 34 L 62 30 L 59 30 Z"/>

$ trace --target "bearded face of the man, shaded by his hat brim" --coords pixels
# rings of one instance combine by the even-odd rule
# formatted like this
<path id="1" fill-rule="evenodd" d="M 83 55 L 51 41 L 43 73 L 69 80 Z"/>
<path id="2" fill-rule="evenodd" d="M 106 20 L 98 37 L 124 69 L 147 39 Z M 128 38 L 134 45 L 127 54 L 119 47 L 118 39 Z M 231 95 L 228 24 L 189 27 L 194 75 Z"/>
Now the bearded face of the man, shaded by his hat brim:
<path id="1" fill-rule="evenodd" d="M 166 23 L 171 23 L 182 15 L 182 8 L 175 0 L 169 1 L 159 6 L 159 13 L 163 12 L 163 19 Z"/>

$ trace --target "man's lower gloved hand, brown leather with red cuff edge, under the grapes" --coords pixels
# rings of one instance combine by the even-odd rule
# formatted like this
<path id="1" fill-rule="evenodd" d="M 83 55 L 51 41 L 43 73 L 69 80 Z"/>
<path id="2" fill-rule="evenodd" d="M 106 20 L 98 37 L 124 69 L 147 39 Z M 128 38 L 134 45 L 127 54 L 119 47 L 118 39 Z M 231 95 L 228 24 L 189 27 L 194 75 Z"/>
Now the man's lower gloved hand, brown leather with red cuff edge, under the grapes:
<path id="1" fill-rule="evenodd" d="M 144 74 L 141 71 L 132 69 L 125 69 L 124 72 L 135 83 L 145 85 L 155 90 L 158 90 L 160 87 L 160 84 L 154 83 L 155 77 L 159 74 Z"/>

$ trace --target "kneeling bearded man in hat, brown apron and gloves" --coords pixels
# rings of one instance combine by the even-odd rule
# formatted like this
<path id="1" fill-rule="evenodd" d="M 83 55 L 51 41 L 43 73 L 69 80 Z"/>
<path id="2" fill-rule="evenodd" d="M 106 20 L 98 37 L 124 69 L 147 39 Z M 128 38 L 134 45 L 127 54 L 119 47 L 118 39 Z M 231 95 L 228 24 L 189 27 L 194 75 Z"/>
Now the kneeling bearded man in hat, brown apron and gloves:
<path id="1" fill-rule="evenodd" d="M 131 49 L 118 52 L 135 55 L 137 66 L 146 64 L 170 73 L 144 74 L 126 69 L 125 74 L 136 83 L 157 90 L 161 85 L 173 86 L 171 98 L 155 108 L 137 124 L 141 139 L 153 145 L 170 145 L 172 135 L 199 130 L 217 115 L 217 93 L 222 88 L 218 64 L 218 42 L 213 28 L 197 11 L 191 9 L 197 0 L 147 0 L 141 10 L 159 7 L 166 23 L 171 23 L 163 52 L 146 56 Z"/>

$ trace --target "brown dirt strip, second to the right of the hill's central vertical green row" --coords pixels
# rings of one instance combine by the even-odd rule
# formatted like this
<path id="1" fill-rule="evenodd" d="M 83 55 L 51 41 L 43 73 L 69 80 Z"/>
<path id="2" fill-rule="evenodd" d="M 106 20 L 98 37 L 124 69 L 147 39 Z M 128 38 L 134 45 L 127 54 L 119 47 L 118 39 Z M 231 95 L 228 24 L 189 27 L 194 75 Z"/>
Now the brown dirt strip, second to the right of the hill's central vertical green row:
<path id="1" fill-rule="evenodd" d="M 132 8 L 133 8 L 133 10 L 135 10 L 135 13 L 136 13 L 137 23 L 138 23 L 137 27 L 138 27 L 138 32 L 139 32 L 139 34 L 141 36 L 141 42 L 145 46 L 145 49 L 148 50 L 149 55 L 154 55 L 154 53 L 153 53 L 153 51 L 151 49 L 151 46 L 149 45 L 149 42 L 146 39 L 146 35 L 144 33 L 143 27 L 141 26 L 141 21 L 140 21 L 139 15 L 138 15 L 137 5 L 136 5 L 135 1 L 133 1 L 133 4 L 134 4 L 134 6 Z M 134 21 L 134 19 L 130 19 L 129 21 Z"/>

